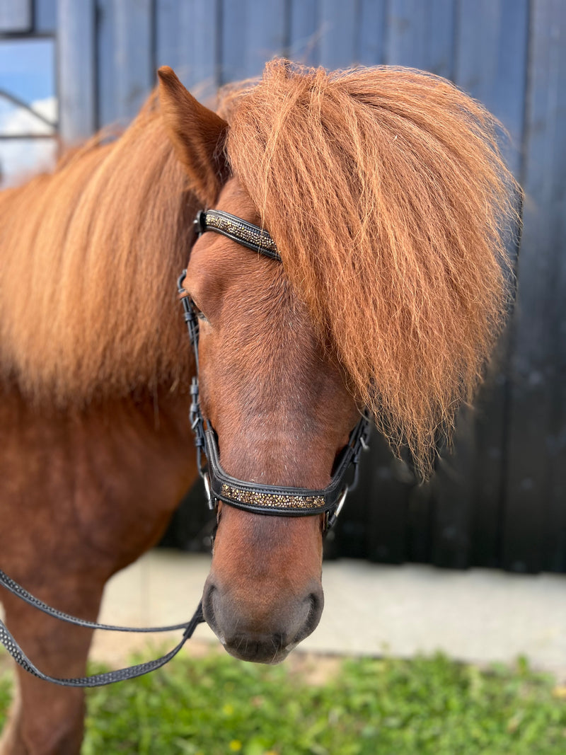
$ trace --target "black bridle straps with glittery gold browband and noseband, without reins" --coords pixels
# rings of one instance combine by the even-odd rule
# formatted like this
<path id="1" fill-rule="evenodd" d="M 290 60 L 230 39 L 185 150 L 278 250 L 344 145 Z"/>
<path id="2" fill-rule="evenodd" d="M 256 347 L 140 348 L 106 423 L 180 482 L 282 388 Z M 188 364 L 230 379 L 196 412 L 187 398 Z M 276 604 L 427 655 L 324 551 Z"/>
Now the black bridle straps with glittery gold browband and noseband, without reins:
<path id="1" fill-rule="evenodd" d="M 198 213 L 195 219 L 198 236 L 205 231 L 215 231 L 252 251 L 281 262 L 275 242 L 266 230 L 241 220 L 235 215 L 220 210 L 207 210 Z M 348 444 L 340 454 L 330 485 L 323 490 L 292 488 L 279 485 L 255 485 L 229 476 L 220 466 L 217 436 L 201 414 L 198 400 L 198 319 L 188 291 L 183 288 L 186 270 L 181 273 L 177 288 L 183 304 L 184 316 L 189 337 L 195 350 L 197 376 L 192 378 L 190 409 L 191 427 L 195 432 L 198 470 L 205 482 L 208 505 L 217 507 L 218 501 L 245 511 L 276 516 L 313 516 L 325 514 L 325 530 L 330 529 L 337 519 L 346 500 L 346 494 L 357 481 L 358 460 L 362 448 L 368 448 L 368 418 L 364 415 L 350 434 Z M 208 465 L 203 464 L 203 454 Z M 353 470 L 352 480 L 346 482 L 349 470 Z"/>

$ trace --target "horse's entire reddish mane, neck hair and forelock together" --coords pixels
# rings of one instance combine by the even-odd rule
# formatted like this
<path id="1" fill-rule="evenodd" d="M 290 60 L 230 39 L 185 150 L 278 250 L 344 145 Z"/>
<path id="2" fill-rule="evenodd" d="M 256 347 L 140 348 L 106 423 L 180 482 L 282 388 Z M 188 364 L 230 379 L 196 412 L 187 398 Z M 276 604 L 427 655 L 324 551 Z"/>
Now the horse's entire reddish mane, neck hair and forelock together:
<path id="1" fill-rule="evenodd" d="M 220 99 L 234 174 L 360 405 L 423 473 L 506 313 L 515 184 L 496 122 L 435 76 L 285 61 Z M 0 196 L 0 365 L 34 399 L 183 383 L 174 280 L 196 202 L 154 100 Z"/>

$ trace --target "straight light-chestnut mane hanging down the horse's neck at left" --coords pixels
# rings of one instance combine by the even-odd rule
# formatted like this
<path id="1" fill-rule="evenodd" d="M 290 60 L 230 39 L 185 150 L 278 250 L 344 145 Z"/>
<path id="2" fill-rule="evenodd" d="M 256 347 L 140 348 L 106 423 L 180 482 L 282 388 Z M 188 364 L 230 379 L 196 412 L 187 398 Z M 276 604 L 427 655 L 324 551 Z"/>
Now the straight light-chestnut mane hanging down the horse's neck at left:
<path id="1" fill-rule="evenodd" d="M 195 200 L 155 97 L 121 137 L 103 137 L 0 195 L 0 376 L 36 402 L 189 377 L 175 280 Z"/>

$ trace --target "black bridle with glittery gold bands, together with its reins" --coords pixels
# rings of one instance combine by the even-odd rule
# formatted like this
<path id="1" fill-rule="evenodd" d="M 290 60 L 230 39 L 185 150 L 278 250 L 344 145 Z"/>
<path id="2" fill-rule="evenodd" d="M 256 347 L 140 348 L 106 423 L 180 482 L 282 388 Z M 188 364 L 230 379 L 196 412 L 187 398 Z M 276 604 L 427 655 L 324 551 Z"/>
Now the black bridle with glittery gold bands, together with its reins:
<path id="1" fill-rule="evenodd" d="M 235 215 L 220 210 L 201 211 L 195 219 L 195 229 L 197 236 L 205 233 L 205 231 L 221 233 L 223 236 L 232 239 L 232 241 L 251 249 L 251 251 L 256 251 L 265 257 L 281 262 L 275 242 L 269 236 L 269 233 L 245 220 L 241 220 L 239 217 L 235 217 Z M 210 422 L 207 423 L 208 427 L 205 427 L 205 419 L 201 414 L 200 402 L 198 400 L 198 319 L 192 299 L 188 291 L 183 288 L 185 276 L 186 270 L 183 270 L 177 282 L 177 290 L 183 304 L 184 318 L 189 329 L 189 338 L 195 352 L 197 371 L 197 375 L 192 378 L 192 402 L 189 417 L 192 430 L 195 433 L 198 473 L 205 482 L 208 506 L 211 510 L 216 510 L 218 502 L 223 501 L 229 504 L 229 506 L 245 511 L 274 516 L 315 516 L 316 514 L 324 514 L 324 532 L 328 532 L 328 529 L 336 522 L 344 501 L 346 501 L 346 495 L 356 485 L 359 457 L 362 449 L 365 450 L 368 448 L 368 417 L 364 414 L 352 430 L 349 441 L 346 447 L 343 448 L 337 461 L 336 470 L 334 471 L 330 485 L 323 490 L 278 485 L 254 485 L 251 482 L 245 482 L 226 474 L 220 466 L 216 433 L 214 433 Z M 207 465 L 204 464 L 203 456 L 208 461 Z M 352 471 L 352 480 L 346 482 L 346 477 Z M 186 643 L 186 640 L 192 637 L 198 624 L 205 621 L 200 602 L 190 621 L 186 621 L 184 624 L 149 628 L 115 627 L 111 624 L 97 624 L 96 621 L 86 621 L 85 619 L 77 618 L 51 608 L 47 603 L 39 600 L 21 587 L 20 584 L 17 584 L 16 581 L 8 577 L 2 570 L 0 570 L 0 586 L 5 587 L 15 596 L 28 603 L 29 606 L 33 606 L 49 616 L 58 618 L 60 621 L 66 621 L 69 624 L 75 624 L 78 627 L 114 632 L 143 633 L 184 630 L 180 643 L 168 653 L 162 655 L 161 658 L 156 658 L 154 661 L 146 661 L 146 663 L 136 664 L 115 671 L 107 671 L 106 673 L 96 673 L 92 676 L 60 679 L 57 676 L 49 676 L 43 673 L 32 664 L 32 661 L 25 655 L 4 622 L 0 621 L 0 643 L 5 646 L 12 658 L 14 658 L 14 661 L 38 679 L 65 687 L 99 687 L 127 679 L 134 679 L 136 676 L 142 676 L 144 673 L 154 671 L 164 666 L 168 661 L 171 661 L 171 658 L 177 655 Z"/>

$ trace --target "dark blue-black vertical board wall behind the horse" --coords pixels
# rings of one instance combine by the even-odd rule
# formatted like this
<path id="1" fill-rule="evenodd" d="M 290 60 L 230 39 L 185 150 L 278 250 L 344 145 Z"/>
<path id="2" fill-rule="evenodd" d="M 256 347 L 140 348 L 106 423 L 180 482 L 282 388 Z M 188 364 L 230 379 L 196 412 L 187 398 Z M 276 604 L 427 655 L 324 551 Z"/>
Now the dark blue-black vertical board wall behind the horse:
<path id="1" fill-rule="evenodd" d="M 42 0 L 45 17 L 54 2 Z M 374 438 L 328 549 L 393 563 L 566 571 L 566 3 L 58 0 L 57 17 L 69 138 L 131 119 L 157 66 L 173 66 L 205 99 L 259 75 L 274 54 L 330 69 L 415 66 L 494 112 L 526 192 L 512 325 L 432 482 L 415 485 Z M 177 519 L 170 541 L 194 546 L 204 513 Z"/>

